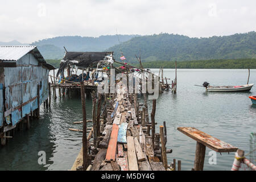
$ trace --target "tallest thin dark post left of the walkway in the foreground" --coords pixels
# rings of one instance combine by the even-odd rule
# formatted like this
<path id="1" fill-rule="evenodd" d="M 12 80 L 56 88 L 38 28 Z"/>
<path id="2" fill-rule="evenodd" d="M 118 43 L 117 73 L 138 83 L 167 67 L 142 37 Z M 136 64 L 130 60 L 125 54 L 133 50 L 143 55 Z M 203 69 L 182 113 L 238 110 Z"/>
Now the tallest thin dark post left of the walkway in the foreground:
<path id="1" fill-rule="evenodd" d="M 81 83 L 81 100 L 82 100 L 82 166 L 84 171 L 88 168 L 88 146 L 86 138 L 86 109 L 85 109 L 85 92 L 84 92 L 84 83 Z"/>

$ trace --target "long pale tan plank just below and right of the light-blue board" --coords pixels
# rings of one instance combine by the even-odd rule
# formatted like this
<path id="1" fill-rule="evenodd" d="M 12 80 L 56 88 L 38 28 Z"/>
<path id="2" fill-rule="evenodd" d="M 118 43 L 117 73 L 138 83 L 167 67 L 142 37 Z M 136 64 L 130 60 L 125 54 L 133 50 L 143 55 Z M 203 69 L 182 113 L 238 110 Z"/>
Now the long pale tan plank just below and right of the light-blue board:
<path id="1" fill-rule="evenodd" d="M 128 164 L 130 171 L 138 171 L 138 163 L 133 137 L 127 137 Z"/>

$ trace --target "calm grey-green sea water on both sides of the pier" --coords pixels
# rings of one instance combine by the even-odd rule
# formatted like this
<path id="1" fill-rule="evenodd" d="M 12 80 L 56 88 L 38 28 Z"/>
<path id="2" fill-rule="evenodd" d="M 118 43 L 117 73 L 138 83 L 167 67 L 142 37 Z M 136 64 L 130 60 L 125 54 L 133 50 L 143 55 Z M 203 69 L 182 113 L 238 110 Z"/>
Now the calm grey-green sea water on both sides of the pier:
<path id="1" fill-rule="evenodd" d="M 158 73 L 159 69 L 151 69 Z M 246 69 L 178 69 L 177 94 L 164 92 L 156 101 L 156 131 L 166 121 L 168 163 L 181 160 L 183 170 L 193 168 L 196 142 L 177 131 L 177 127 L 196 127 L 227 143 L 250 150 L 250 133 L 256 132 L 256 107 L 248 98 L 256 95 L 255 86 L 250 92 L 207 93 L 194 86 L 208 81 L 211 85 L 239 85 L 247 82 Z M 164 69 L 164 77 L 174 78 L 174 69 Z M 256 70 L 251 70 L 250 83 L 256 84 Z M 58 92 L 57 92 L 58 93 Z M 92 117 L 92 100 L 86 98 L 87 118 Z M 149 111 L 152 102 L 149 101 Z M 18 131 L 5 147 L 0 147 L 0 170 L 68 170 L 81 149 L 81 133 L 69 128 L 82 120 L 79 97 L 57 97 L 51 109 L 41 106 L 40 119 L 32 121 L 30 130 Z M 89 127 L 92 125 L 88 123 Z M 38 164 L 38 152 L 46 152 L 46 165 Z M 217 164 L 210 165 L 209 148 L 205 154 L 204 170 L 230 170 L 234 152 L 217 153 Z"/>

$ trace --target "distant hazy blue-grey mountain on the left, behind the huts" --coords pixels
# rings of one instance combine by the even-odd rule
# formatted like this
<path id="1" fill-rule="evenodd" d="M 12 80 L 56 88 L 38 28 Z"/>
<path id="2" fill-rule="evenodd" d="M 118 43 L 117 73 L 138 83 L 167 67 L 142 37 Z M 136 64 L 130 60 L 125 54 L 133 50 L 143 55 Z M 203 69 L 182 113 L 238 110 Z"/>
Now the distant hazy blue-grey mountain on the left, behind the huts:
<path id="1" fill-rule="evenodd" d="M 57 36 L 31 43 L 38 46 L 44 59 L 61 59 L 67 51 L 104 51 L 116 44 L 126 42 L 139 35 L 102 35 L 98 38 L 82 36 Z M 118 40 L 119 39 L 119 40 Z"/>

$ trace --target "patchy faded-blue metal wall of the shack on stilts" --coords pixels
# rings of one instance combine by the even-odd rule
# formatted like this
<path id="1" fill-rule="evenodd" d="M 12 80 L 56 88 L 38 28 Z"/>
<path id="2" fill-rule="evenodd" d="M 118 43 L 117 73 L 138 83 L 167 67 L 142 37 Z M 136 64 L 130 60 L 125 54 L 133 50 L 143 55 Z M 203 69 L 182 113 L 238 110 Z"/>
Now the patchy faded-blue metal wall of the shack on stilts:
<path id="1" fill-rule="evenodd" d="M 24 55 L 17 61 L 17 65 L 18 67 L 15 68 L 4 68 L 5 107 L 6 111 L 9 110 L 10 112 L 10 115 L 6 115 L 5 120 L 7 124 L 11 123 L 13 126 L 25 117 L 26 114 L 38 109 L 38 98 L 36 98 L 38 85 L 40 85 L 40 105 L 48 98 L 49 94 L 49 71 L 38 66 L 38 61 L 33 55 Z"/>

